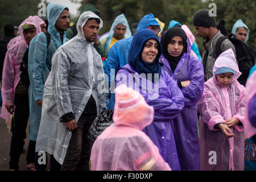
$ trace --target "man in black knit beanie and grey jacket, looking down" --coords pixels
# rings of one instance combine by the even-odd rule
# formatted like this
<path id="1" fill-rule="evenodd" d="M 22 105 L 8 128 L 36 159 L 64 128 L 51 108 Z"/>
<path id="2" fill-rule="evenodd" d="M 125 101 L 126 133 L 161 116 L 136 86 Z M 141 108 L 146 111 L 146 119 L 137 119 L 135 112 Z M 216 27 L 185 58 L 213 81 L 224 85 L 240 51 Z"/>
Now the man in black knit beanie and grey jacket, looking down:
<path id="1" fill-rule="evenodd" d="M 214 15 L 209 10 L 199 10 L 193 16 L 193 24 L 196 28 L 196 35 L 206 39 L 203 43 L 203 60 L 205 81 L 213 76 L 212 69 L 217 59 L 215 55 L 216 43 L 222 36 L 221 32 L 217 30 L 216 20 Z M 221 52 L 232 48 L 236 55 L 234 45 L 225 39 L 221 44 Z"/>

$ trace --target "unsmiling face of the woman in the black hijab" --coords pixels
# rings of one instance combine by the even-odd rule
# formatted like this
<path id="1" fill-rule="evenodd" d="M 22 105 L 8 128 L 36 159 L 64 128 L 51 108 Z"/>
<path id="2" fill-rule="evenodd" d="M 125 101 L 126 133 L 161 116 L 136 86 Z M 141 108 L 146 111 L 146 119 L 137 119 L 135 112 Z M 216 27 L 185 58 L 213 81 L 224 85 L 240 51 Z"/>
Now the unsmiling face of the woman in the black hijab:
<path id="1" fill-rule="evenodd" d="M 181 38 L 181 36 L 174 36 L 168 44 L 167 51 L 170 56 L 178 57 L 181 55 L 183 47 L 183 39 Z"/>

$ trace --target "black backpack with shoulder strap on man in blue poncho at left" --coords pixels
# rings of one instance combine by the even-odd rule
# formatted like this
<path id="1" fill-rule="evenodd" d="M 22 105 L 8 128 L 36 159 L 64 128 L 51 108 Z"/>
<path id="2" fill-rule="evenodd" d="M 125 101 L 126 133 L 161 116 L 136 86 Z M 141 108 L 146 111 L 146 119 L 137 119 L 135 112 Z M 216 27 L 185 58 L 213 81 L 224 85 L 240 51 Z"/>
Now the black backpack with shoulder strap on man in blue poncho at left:
<path id="1" fill-rule="evenodd" d="M 49 43 L 51 42 L 51 35 L 49 32 L 44 32 L 47 38 L 47 48 L 49 46 Z M 24 52 L 22 62 L 20 63 L 19 70 L 21 71 L 20 73 L 20 81 L 22 82 L 23 85 L 30 86 L 30 78 L 28 77 L 28 50 L 29 47 L 26 49 Z"/>

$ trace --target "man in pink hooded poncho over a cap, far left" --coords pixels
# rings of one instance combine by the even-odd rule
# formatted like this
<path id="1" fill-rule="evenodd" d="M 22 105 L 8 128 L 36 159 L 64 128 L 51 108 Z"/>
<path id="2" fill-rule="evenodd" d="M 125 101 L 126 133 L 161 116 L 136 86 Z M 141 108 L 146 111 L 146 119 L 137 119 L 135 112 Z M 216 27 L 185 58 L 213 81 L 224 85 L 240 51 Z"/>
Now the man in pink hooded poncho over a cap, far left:
<path id="1" fill-rule="evenodd" d="M 39 20 L 29 16 L 19 26 L 20 38 L 8 48 L 3 64 L 2 97 L 3 104 L 1 117 L 12 121 L 11 147 L 10 147 L 10 170 L 19 170 L 20 152 L 23 150 L 23 139 L 26 138 L 26 128 L 30 115 L 28 106 L 28 88 L 20 81 L 20 63 L 31 39 L 41 32 Z M 35 143 L 30 140 L 27 153 L 27 167 L 35 171 L 34 164 Z"/>

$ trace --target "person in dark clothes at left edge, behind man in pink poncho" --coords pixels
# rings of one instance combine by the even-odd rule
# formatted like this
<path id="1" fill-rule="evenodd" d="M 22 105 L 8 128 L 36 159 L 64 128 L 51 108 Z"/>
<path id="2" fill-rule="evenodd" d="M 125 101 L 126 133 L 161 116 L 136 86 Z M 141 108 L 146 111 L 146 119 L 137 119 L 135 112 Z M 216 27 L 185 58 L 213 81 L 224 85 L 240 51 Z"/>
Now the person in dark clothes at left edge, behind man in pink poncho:
<path id="1" fill-rule="evenodd" d="M 2 71 L 3 71 L 3 61 L 5 60 L 5 54 L 7 52 L 7 44 L 11 39 L 14 38 L 14 26 L 12 24 L 5 25 L 5 36 L 0 38 L 0 79 L 2 82 Z"/>

